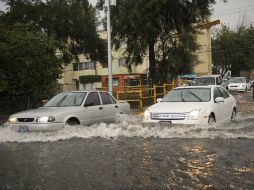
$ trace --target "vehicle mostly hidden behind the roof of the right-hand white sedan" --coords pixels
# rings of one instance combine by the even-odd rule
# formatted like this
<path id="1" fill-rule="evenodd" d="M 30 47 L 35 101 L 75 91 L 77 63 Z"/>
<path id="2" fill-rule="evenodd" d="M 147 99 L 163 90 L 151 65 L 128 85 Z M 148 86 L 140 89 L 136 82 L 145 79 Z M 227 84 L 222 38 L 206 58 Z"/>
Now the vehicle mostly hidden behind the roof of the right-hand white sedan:
<path id="1" fill-rule="evenodd" d="M 221 84 L 222 84 L 221 75 L 204 75 L 197 77 L 193 85 L 205 86 L 205 85 L 221 85 Z"/>

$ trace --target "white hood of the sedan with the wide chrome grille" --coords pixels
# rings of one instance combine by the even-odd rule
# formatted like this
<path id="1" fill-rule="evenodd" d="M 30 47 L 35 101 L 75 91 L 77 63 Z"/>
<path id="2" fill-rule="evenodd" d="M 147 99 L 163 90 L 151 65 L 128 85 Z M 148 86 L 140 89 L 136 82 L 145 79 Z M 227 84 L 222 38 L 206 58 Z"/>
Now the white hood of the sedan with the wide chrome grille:
<path id="1" fill-rule="evenodd" d="M 187 113 L 193 110 L 204 109 L 209 102 L 160 102 L 149 107 L 150 112 Z"/>

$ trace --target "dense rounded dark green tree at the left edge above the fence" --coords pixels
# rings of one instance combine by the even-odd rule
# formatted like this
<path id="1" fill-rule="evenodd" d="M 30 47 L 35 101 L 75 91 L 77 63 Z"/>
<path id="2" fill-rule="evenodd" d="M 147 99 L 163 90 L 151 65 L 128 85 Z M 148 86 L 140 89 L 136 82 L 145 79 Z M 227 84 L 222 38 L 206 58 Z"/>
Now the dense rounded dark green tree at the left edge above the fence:
<path id="1" fill-rule="evenodd" d="M 62 73 L 57 41 L 34 23 L 0 25 L 0 93 L 39 95 L 54 92 Z"/>

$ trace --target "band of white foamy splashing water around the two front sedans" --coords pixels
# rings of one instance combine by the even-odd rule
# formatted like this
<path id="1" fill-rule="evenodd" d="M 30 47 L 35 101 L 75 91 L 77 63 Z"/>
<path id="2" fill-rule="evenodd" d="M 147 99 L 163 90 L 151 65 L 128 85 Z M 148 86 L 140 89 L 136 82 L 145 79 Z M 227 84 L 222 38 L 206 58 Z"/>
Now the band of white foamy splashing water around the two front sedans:
<path id="1" fill-rule="evenodd" d="M 116 123 L 92 126 L 66 126 L 55 132 L 18 133 L 0 127 L 0 143 L 3 142 L 48 142 L 71 138 L 254 138 L 254 117 L 238 116 L 236 121 L 215 126 L 142 126 L 142 119 L 134 115 L 122 115 Z"/>

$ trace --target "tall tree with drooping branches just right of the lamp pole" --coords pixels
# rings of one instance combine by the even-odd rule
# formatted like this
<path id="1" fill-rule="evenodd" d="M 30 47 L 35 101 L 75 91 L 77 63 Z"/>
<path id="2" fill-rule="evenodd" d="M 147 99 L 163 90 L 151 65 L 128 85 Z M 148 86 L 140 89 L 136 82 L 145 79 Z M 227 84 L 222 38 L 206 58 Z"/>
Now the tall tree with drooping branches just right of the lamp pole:
<path id="1" fill-rule="evenodd" d="M 118 48 L 126 41 L 129 64 L 142 63 L 148 51 L 149 76 L 155 82 L 190 72 L 198 48 L 196 34 L 212 3 L 214 0 L 119 0 L 111 14 L 113 43 Z"/>

